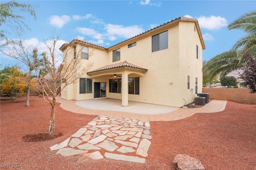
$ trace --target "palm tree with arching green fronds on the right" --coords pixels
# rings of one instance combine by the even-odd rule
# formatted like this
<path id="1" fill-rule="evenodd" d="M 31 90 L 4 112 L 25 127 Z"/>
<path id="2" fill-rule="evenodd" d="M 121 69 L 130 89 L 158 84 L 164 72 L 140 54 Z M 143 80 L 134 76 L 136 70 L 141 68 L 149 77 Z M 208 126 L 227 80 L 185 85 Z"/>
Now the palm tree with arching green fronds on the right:
<path id="1" fill-rule="evenodd" d="M 203 66 L 203 72 L 209 71 L 210 77 L 220 73 L 220 77 L 226 76 L 232 71 L 240 69 L 246 60 L 244 56 L 250 53 L 256 57 L 256 10 L 248 12 L 228 25 L 228 30 L 240 29 L 247 33 L 240 38 L 232 49 L 220 53 L 207 61 Z"/>

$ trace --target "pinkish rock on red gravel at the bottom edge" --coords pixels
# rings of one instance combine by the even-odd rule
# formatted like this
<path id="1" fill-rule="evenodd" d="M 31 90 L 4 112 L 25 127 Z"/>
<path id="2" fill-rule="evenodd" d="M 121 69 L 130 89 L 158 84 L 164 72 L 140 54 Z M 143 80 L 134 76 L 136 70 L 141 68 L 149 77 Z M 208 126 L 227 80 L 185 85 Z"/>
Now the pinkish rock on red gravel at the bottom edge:
<path id="1" fill-rule="evenodd" d="M 176 170 L 205 170 L 200 160 L 187 154 L 178 154 L 173 160 Z"/>

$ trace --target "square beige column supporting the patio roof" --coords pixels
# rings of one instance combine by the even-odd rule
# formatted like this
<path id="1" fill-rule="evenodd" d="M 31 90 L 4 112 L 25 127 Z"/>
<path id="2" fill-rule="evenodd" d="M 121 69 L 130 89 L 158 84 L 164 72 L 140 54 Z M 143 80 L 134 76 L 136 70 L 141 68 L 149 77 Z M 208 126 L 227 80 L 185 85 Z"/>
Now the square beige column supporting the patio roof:
<path id="1" fill-rule="evenodd" d="M 128 106 L 128 73 L 122 73 L 122 106 Z"/>

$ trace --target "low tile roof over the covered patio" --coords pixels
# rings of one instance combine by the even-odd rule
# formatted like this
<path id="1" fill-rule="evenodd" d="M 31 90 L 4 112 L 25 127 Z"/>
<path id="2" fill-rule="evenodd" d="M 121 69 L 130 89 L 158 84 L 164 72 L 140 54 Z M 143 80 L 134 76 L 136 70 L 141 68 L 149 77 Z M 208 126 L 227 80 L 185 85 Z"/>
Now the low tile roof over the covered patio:
<path id="1" fill-rule="evenodd" d="M 146 71 L 148 70 L 148 69 L 146 69 L 144 67 L 140 67 L 136 64 L 129 63 L 127 61 L 122 61 L 120 63 L 114 63 L 114 64 L 106 65 L 104 67 L 100 67 L 98 69 L 88 71 L 87 73 L 93 73 L 93 72 L 96 72 L 96 71 L 102 71 L 102 70 L 107 70 L 107 69 L 114 69 L 114 68 L 118 68 L 118 67 L 132 67 L 132 68 L 142 69 L 142 70 L 146 70 Z"/>

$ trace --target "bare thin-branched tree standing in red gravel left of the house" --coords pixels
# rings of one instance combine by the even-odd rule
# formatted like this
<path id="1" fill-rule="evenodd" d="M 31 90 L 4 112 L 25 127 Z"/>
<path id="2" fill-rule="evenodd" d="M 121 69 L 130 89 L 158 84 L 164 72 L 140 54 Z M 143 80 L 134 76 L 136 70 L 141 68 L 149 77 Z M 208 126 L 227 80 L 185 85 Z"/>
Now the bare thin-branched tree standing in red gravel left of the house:
<path id="1" fill-rule="evenodd" d="M 24 44 L 20 36 L 18 36 L 17 40 L 12 40 L 8 52 L 5 52 L 5 54 L 24 63 L 36 75 L 40 91 L 38 91 L 37 87 L 33 87 L 32 84 L 31 87 L 38 91 L 52 108 L 49 122 L 49 134 L 52 135 L 55 130 L 55 105 L 60 93 L 68 85 L 77 83 L 79 77 L 86 74 L 93 63 L 85 63 L 79 57 L 82 49 L 77 49 L 77 57 L 74 57 L 72 52 L 68 52 L 74 46 L 72 42 L 65 43 L 65 45 L 68 44 L 68 47 L 63 56 L 61 53 L 57 53 L 57 49 L 62 44 L 60 44 L 59 36 L 54 34 L 44 44 L 46 51 L 41 55 L 35 55 L 35 48 L 32 45 Z M 92 56 L 93 52 L 94 49 L 92 48 L 88 53 L 88 57 Z M 44 64 L 38 65 L 35 60 L 41 60 Z"/>

